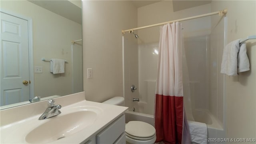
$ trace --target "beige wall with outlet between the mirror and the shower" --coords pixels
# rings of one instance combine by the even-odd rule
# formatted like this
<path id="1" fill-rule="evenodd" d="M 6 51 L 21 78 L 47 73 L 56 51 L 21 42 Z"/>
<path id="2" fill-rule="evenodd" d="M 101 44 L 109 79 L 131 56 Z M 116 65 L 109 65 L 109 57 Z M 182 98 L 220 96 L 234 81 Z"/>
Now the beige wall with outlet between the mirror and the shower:
<path id="1" fill-rule="evenodd" d="M 137 27 L 137 8 L 129 1 L 84 0 L 82 6 L 86 100 L 123 96 L 121 31 Z M 92 79 L 87 79 L 87 68 L 92 68 Z"/>

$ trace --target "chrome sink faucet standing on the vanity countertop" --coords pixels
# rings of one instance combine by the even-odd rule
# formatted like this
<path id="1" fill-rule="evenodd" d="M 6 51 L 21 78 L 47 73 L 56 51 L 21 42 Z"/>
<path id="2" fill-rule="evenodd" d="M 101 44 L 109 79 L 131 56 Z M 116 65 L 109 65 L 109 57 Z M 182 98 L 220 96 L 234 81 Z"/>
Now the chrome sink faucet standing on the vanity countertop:
<path id="1" fill-rule="evenodd" d="M 48 101 L 48 108 L 46 108 L 45 112 L 38 118 L 38 120 L 44 120 L 46 118 L 51 118 L 53 116 L 57 116 L 61 114 L 60 109 L 61 105 L 55 105 L 54 100 Z"/>

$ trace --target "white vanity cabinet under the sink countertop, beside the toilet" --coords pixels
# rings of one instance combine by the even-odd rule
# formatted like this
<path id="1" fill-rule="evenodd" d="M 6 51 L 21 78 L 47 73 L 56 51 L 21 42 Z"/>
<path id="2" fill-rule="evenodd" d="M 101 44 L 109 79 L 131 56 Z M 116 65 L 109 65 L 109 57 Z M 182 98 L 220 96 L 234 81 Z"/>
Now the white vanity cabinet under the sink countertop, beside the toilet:
<path id="1" fill-rule="evenodd" d="M 84 144 L 125 144 L 125 116 L 124 114 L 101 130 L 90 136 Z"/>

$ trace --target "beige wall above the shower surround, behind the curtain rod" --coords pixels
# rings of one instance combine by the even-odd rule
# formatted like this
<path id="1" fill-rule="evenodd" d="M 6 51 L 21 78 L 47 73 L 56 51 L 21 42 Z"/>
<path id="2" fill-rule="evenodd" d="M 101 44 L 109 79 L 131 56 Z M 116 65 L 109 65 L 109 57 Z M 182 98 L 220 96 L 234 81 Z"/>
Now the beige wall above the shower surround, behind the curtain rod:
<path id="1" fill-rule="evenodd" d="M 180 18 L 206 14 L 211 11 L 210 4 L 173 12 L 172 1 L 165 0 L 138 8 L 138 26 L 168 22 Z M 210 34 L 210 17 L 182 22 L 184 37 Z M 138 30 L 139 43 L 159 42 L 159 26 Z"/>

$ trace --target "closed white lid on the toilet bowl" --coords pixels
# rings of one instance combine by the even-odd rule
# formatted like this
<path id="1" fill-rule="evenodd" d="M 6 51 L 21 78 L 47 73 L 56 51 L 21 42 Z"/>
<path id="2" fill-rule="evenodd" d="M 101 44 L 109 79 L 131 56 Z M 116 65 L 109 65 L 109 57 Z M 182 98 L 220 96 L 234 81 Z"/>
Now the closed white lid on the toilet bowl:
<path id="1" fill-rule="evenodd" d="M 128 136 L 149 138 L 156 134 L 156 129 L 146 122 L 130 121 L 125 125 L 125 132 Z"/>

